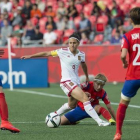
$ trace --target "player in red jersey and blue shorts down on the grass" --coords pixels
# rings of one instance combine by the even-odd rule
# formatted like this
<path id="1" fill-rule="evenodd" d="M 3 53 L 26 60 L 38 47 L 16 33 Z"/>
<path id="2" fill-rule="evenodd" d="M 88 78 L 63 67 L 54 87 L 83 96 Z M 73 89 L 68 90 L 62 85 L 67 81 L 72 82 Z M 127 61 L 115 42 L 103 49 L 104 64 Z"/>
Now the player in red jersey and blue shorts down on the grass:
<path id="1" fill-rule="evenodd" d="M 103 74 L 98 74 L 95 76 L 94 82 L 83 83 L 81 84 L 81 88 L 89 97 L 91 105 L 94 107 L 95 111 L 108 120 L 111 125 L 114 125 L 116 123 L 115 113 L 110 104 L 107 93 L 103 89 L 106 81 L 107 79 Z M 99 99 L 103 100 L 108 110 L 99 104 Z M 110 114 L 114 119 L 112 119 Z M 76 124 L 76 122 L 85 118 L 90 118 L 90 116 L 84 110 L 83 103 L 79 101 L 75 109 L 61 116 L 61 125 Z"/>

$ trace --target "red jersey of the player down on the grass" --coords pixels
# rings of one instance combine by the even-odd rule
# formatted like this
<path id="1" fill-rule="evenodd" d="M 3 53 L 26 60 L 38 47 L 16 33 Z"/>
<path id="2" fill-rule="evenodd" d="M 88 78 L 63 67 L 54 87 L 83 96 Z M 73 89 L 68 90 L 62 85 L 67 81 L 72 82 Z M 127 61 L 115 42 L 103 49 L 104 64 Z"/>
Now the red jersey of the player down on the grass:
<path id="1" fill-rule="evenodd" d="M 99 104 L 99 99 L 102 99 L 105 104 L 110 103 L 110 101 L 107 97 L 107 93 L 103 89 L 99 92 L 94 90 L 93 82 L 83 83 L 83 84 L 81 84 L 81 88 L 84 92 L 89 92 L 91 94 L 91 98 L 93 99 L 93 101 L 91 102 L 92 106 Z M 82 110 L 84 110 L 84 105 L 82 102 L 78 102 L 78 106 Z"/>

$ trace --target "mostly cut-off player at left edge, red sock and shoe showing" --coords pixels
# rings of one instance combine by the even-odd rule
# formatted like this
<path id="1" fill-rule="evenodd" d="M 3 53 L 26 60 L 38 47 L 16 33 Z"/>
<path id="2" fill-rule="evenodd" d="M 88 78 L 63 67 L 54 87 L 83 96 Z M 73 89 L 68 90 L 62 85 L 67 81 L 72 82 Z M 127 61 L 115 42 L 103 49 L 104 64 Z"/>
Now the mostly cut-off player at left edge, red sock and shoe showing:
<path id="1" fill-rule="evenodd" d="M 4 54 L 3 50 L 0 50 L 0 57 Z M 2 89 L 2 82 L 0 79 L 0 117 L 1 117 L 1 130 L 9 130 L 12 133 L 19 133 L 20 130 L 15 128 L 9 121 L 8 121 L 8 107 L 5 100 L 5 95 Z"/>

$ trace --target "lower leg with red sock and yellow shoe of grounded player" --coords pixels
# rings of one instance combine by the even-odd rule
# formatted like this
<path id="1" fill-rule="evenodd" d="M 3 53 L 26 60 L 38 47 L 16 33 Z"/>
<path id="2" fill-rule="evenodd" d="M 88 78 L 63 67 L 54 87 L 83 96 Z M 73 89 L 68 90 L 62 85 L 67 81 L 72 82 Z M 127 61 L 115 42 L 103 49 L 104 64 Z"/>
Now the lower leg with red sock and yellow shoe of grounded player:
<path id="1" fill-rule="evenodd" d="M 99 115 L 101 114 L 107 121 L 109 121 L 111 125 L 116 124 L 115 120 L 112 119 L 112 117 L 107 109 L 100 106 L 99 104 L 95 105 L 94 109 Z"/>

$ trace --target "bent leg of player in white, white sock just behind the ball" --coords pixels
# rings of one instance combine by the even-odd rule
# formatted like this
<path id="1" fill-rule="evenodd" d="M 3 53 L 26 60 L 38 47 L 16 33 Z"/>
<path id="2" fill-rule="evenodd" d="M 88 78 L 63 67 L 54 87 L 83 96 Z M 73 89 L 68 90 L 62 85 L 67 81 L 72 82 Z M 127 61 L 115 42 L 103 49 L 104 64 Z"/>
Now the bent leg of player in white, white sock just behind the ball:
<path id="1" fill-rule="evenodd" d="M 64 103 L 57 111 L 56 113 L 58 115 L 61 115 L 73 108 L 76 107 L 76 104 L 77 104 L 77 100 L 75 100 L 72 96 L 71 97 L 68 97 L 68 103 Z"/>

